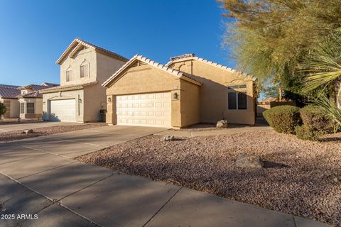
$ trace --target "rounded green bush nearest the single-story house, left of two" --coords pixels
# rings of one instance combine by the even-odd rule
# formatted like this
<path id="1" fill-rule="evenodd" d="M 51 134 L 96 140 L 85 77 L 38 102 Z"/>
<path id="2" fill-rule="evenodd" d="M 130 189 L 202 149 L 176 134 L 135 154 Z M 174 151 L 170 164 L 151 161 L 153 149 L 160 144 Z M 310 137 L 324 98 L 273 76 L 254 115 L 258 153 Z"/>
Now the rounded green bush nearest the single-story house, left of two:
<path id="1" fill-rule="evenodd" d="M 301 124 L 300 109 L 297 106 L 275 106 L 263 113 L 269 125 L 278 133 L 295 133 Z"/>

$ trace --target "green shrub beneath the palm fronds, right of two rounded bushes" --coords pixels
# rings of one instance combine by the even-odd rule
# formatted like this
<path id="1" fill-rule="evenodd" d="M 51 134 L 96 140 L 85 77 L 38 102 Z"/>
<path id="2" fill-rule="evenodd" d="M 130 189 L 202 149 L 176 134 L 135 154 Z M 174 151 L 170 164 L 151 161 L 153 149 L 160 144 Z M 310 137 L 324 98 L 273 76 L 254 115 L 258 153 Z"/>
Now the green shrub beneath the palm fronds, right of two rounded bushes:
<path id="1" fill-rule="evenodd" d="M 319 106 L 308 105 L 300 109 L 302 123 L 310 131 L 321 131 L 331 133 L 334 129 L 334 123 Z"/>

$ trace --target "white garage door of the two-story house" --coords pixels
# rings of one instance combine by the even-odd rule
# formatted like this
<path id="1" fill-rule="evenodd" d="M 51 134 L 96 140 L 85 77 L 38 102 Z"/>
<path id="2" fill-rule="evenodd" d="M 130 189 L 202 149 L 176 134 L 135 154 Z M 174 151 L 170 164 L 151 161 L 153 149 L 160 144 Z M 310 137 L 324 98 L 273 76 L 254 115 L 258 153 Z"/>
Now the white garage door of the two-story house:
<path id="1" fill-rule="evenodd" d="M 50 101 L 50 121 L 76 121 L 75 99 L 63 99 Z"/>

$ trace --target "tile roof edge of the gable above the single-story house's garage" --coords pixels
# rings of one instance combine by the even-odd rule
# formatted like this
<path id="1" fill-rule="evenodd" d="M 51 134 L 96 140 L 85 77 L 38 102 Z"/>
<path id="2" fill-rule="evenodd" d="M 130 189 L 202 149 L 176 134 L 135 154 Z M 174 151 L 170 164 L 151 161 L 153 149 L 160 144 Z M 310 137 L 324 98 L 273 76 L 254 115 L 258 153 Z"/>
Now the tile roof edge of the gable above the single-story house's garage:
<path id="1" fill-rule="evenodd" d="M 142 55 L 135 55 L 134 57 L 131 57 L 131 59 L 128 62 L 126 62 L 126 64 L 124 64 L 121 68 L 119 68 L 119 70 L 117 70 L 117 72 L 115 72 L 111 77 L 109 77 L 109 79 L 107 79 L 102 84 L 102 86 L 106 87 L 107 84 L 112 82 L 112 80 L 115 77 L 117 77 L 118 74 L 120 74 L 123 70 L 125 70 L 127 67 L 129 67 L 129 65 L 131 65 L 131 63 L 134 62 L 135 60 L 139 60 L 141 62 L 146 62 L 148 65 L 151 65 L 153 67 L 157 67 L 160 70 L 169 72 L 169 73 L 173 74 L 175 77 L 188 80 L 189 82 L 192 82 L 193 84 L 197 84 L 197 85 L 202 84 L 201 82 L 198 82 L 196 79 L 193 79 L 192 77 L 190 77 L 190 75 L 186 74 L 185 72 L 180 72 L 179 70 L 172 69 L 171 67 L 167 67 L 165 65 L 162 65 L 161 63 L 154 62 L 153 60 L 151 60 L 147 57 L 144 57 Z"/>

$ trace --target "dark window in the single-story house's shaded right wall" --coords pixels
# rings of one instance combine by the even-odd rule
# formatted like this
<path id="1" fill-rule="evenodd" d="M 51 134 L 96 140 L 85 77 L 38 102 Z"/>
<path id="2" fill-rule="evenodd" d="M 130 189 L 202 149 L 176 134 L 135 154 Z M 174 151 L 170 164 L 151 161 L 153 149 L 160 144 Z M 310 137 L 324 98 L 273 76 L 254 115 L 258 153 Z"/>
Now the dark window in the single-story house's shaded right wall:
<path id="1" fill-rule="evenodd" d="M 227 87 L 228 109 L 247 109 L 247 85 L 231 85 Z"/>

